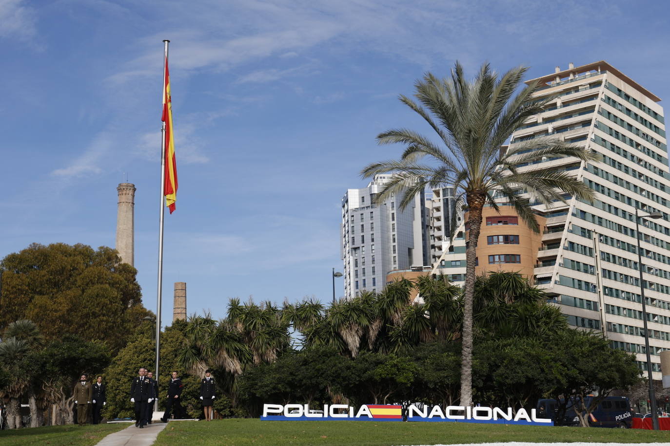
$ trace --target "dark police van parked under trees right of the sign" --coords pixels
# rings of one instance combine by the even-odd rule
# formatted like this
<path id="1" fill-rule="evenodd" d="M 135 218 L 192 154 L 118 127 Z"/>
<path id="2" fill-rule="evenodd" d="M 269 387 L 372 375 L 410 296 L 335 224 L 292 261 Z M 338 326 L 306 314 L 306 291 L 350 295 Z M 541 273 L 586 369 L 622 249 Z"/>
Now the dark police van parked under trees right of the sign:
<path id="1" fill-rule="evenodd" d="M 586 397 L 586 405 L 589 405 L 594 397 Z M 561 401 L 562 403 L 562 401 Z M 567 403 L 567 409 L 562 422 L 557 420 L 558 402 L 555 399 L 541 399 L 537 401 L 537 415 L 551 418 L 554 425 L 579 426 L 580 419 L 575 412 L 572 403 Z M 591 427 L 620 427 L 628 429 L 632 427 L 632 411 L 630 401 L 626 397 L 605 397 L 588 417 Z"/>

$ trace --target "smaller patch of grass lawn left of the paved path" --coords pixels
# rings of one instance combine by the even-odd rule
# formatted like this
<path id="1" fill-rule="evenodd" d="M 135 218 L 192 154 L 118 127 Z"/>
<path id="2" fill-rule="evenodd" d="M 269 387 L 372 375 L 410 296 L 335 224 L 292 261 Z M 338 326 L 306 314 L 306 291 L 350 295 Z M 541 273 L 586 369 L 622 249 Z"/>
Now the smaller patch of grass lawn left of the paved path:
<path id="1" fill-rule="evenodd" d="M 0 446 L 89 446 L 98 443 L 107 434 L 128 427 L 128 423 L 31 427 L 0 431 Z"/>

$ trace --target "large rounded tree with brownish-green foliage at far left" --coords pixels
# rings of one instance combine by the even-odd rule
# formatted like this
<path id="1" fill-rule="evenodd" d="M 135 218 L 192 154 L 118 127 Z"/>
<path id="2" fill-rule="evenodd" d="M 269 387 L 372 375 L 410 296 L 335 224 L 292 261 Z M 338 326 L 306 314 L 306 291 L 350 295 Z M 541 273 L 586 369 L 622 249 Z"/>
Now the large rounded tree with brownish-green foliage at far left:
<path id="1" fill-rule="evenodd" d="M 115 353 L 149 312 L 137 271 L 117 251 L 34 243 L 1 262 L 0 328 L 33 320 L 47 340 L 63 334 L 104 341 Z"/>

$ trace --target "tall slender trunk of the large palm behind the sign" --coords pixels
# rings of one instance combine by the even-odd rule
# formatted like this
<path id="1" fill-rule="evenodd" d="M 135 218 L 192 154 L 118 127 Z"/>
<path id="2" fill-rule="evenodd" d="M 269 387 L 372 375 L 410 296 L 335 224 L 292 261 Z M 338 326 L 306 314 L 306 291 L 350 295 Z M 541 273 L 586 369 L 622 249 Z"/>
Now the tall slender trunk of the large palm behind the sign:
<path id="1" fill-rule="evenodd" d="M 466 200 L 469 207 L 468 247 L 465 251 L 466 273 L 465 292 L 463 296 L 463 338 L 461 352 L 461 401 L 460 405 L 472 406 L 472 306 L 474 302 L 475 261 L 477 258 L 477 241 L 482 226 L 482 209 L 486 195 L 468 192 Z"/>

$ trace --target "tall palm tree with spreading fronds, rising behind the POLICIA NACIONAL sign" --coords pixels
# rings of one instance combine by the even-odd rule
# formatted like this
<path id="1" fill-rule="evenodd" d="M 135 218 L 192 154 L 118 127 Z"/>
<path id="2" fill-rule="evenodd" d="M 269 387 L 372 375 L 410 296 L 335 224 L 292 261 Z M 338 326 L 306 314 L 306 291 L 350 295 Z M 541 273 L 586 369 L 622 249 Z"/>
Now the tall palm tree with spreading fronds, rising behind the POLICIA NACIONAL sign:
<path id="1" fill-rule="evenodd" d="M 547 136 L 515 142 L 502 152 L 501 147 L 511 134 L 551 100 L 533 98 L 538 88 L 535 83 L 517 92 L 526 70 L 513 68 L 498 78 L 484 64 L 470 81 L 457 62 L 448 78 L 425 74 L 415 82 L 418 103 L 403 95 L 399 99 L 431 126 L 439 142 L 407 128 L 387 130 L 377 136 L 377 142 L 405 144 L 401 158 L 369 164 L 361 172 L 364 178 L 393 173 L 377 196 L 378 202 L 399 194 L 404 209 L 426 187 L 450 187 L 454 189 L 457 206 L 465 205 L 470 211 L 462 334 L 461 405 L 464 406 L 472 405 L 474 267 L 484 205 L 497 211 L 494 197 L 498 194 L 513 205 L 531 229 L 539 231 L 529 197 L 550 207 L 555 201 L 565 203 L 566 193 L 588 201 L 594 196 L 584 183 L 569 174 L 533 164 L 543 157 L 597 160 L 595 154 L 582 146 Z M 428 158 L 429 162 L 422 162 L 422 158 Z M 520 170 L 523 164 L 531 167 Z"/>

